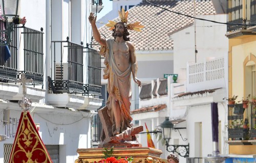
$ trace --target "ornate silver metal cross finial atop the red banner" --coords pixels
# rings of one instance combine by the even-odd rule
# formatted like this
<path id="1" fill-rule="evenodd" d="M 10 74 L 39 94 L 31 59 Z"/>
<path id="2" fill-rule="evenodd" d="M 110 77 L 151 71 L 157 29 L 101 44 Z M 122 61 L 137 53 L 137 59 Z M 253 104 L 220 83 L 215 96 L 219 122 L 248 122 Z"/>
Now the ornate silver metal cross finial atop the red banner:
<path id="1" fill-rule="evenodd" d="M 26 98 L 26 94 L 27 94 L 27 88 L 26 88 L 26 83 L 31 83 L 33 82 L 32 79 L 27 79 L 25 76 L 25 73 L 22 73 L 22 77 L 20 80 L 15 80 L 16 83 L 22 83 L 22 87 L 23 87 L 23 98 L 22 100 L 18 101 L 18 104 L 20 107 L 22 107 L 22 109 L 24 111 L 28 111 L 29 110 L 29 106 L 31 106 L 31 99 L 27 99 Z"/>

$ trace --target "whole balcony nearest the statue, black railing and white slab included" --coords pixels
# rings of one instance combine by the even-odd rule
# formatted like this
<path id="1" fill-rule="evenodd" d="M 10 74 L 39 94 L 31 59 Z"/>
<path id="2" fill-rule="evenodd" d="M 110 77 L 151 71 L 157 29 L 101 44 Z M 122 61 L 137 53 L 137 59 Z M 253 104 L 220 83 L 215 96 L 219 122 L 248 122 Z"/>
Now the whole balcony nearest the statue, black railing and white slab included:
<path id="1" fill-rule="evenodd" d="M 100 55 L 95 49 L 70 42 L 68 37 L 67 41 L 52 41 L 48 102 L 97 110 L 102 101 L 95 98 L 101 95 L 100 72 Z"/>

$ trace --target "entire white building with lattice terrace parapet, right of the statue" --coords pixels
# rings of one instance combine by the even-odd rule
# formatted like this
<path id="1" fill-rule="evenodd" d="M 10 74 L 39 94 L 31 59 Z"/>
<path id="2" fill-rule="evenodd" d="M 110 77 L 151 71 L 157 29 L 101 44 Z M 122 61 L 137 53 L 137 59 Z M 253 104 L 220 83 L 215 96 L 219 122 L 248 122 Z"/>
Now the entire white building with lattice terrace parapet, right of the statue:
<path id="1" fill-rule="evenodd" d="M 219 22 L 226 21 L 225 14 L 197 15 L 197 17 Z M 212 154 L 211 102 L 218 102 L 220 151 L 222 154 L 227 154 L 228 151 L 225 142 L 227 140 L 227 107 L 226 101 L 223 101 L 223 98 L 227 97 L 228 89 L 228 40 L 225 33 L 225 25 L 201 20 L 196 20 L 195 23 L 170 33 L 170 37 L 174 40 L 174 74 L 178 74 L 177 83 L 173 83 L 171 75 L 168 79 L 153 80 L 150 91 L 145 91 L 148 88 L 142 87 L 140 98 L 143 99 L 140 99 L 139 108 L 144 112 L 139 109 L 132 115 L 141 125 L 146 122 L 151 131 L 156 126 L 159 128 L 165 120 L 164 117 L 169 117 L 175 127 L 186 128 L 179 130 L 182 137 L 177 130 L 175 132 L 173 129 L 169 144 L 189 144 L 189 157 L 193 159 Z M 195 44 L 198 51 L 196 62 Z M 164 84 L 165 80 L 167 84 Z M 161 83 L 165 89 L 165 94 L 162 95 Z M 147 97 L 148 94 L 151 95 Z M 166 105 L 166 107 L 161 110 L 157 107 L 155 110 L 150 110 L 152 106 L 157 105 Z M 169 154 L 165 149 L 166 146 L 161 144 L 161 141 L 156 143 L 158 141 L 156 134 L 152 134 L 152 138 L 156 148 L 163 151 L 161 157 L 166 158 Z M 139 140 L 143 146 L 146 146 L 146 134 L 140 134 Z M 186 161 L 182 156 L 179 158 L 180 162 Z M 203 159 L 202 161 L 204 162 Z"/>

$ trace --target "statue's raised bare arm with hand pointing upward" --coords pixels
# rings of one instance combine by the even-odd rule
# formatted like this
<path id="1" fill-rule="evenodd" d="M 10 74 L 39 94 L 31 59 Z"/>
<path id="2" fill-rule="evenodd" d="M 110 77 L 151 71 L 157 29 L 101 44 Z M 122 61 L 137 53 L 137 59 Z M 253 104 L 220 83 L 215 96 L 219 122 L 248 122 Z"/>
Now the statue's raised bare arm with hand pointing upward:
<path id="1" fill-rule="evenodd" d="M 96 26 L 96 24 L 95 24 L 95 23 L 96 23 L 97 16 L 94 16 L 93 13 L 91 13 L 88 19 L 89 19 L 89 22 L 90 22 L 91 25 L 92 25 L 92 30 L 93 30 L 93 37 L 94 37 L 94 39 L 95 39 L 98 43 L 100 43 L 101 45 L 106 46 L 106 40 L 105 40 L 105 38 L 102 38 L 102 37 L 100 36 L 99 31 L 98 31 L 98 29 L 97 29 L 97 26 Z"/>

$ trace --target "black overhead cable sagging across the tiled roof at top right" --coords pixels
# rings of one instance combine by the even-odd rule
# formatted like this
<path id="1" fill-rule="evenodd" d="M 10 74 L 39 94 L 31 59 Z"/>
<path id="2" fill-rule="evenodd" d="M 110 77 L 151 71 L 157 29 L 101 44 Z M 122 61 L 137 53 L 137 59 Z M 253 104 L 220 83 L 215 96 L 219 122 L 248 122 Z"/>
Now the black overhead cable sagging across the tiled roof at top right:
<path id="1" fill-rule="evenodd" d="M 166 8 L 164 8 L 164 7 L 161 7 L 161 6 L 152 4 L 151 2 L 148 2 L 147 0 L 142 0 L 142 1 L 145 1 L 145 2 L 148 3 L 148 4 L 151 4 L 151 5 L 155 6 L 155 7 L 161 8 L 161 9 L 163 9 L 163 10 L 166 10 L 166 11 L 169 11 L 169 12 L 172 12 L 172 13 L 175 13 L 175 14 L 178 14 L 178 15 L 183 15 L 183 16 L 187 16 L 187 17 L 190 17 L 190 18 L 198 19 L 198 20 L 210 21 L 210 22 L 219 23 L 219 24 L 226 24 L 226 25 L 245 25 L 245 26 L 247 26 L 247 25 L 256 25 L 256 24 L 243 24 L 243 23 L 219 22 L 219 21 L 214 21 L 214 20 L 208 20 L 208 19 L 197 18 L 197 17 L 194 17 L 194 16 L 182 14 L 182 13 L 175 12 L 175 11 L 166 9 Z"/>

